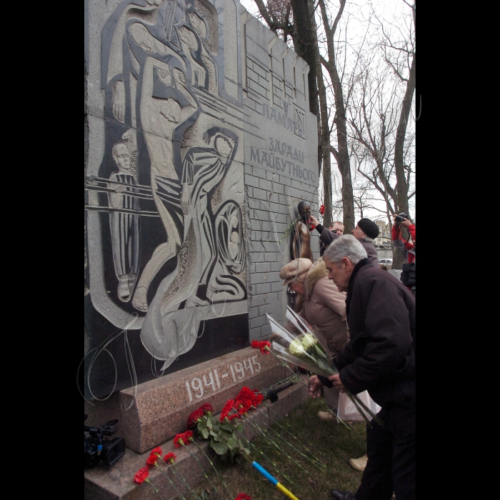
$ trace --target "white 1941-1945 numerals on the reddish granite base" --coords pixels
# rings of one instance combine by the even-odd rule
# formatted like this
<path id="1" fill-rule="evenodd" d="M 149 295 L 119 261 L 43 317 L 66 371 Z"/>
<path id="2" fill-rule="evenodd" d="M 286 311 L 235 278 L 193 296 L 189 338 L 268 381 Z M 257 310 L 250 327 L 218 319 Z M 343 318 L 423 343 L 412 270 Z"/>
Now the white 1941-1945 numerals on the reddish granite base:
<path id="1" fill-rule="evenodd" d="M 244 359 L 243 363 L 241 361 L 236 361 L 234 364 L 229 365 L 229 371 L 224 372 L 224 374 L 219 375 L 218 369 L 214 369 L 209 372 L 208 378 L 204 375 L 203 377 L 195 376 L 191 381 L 186 380 L 189 401 L 193 401 L 193 395 L 196 399 L 201 399 L 205 393 L 204 387 L 207 389 L 211 387 L 211 394 L 215 394 L 222 386 L 230 386 L 236 384 L 237 381 L 243 380 L 248 372 L 253 375 L 254 366 L 256 373 L 259 373 L 259 371 L 261 371 L 261 364 L 259 361 L 256 361 L 256 358 L 257 356 L 251 356 L 251 358 Z M 229 384 L 225 384 L 227 381 L 229 381 Z"/>

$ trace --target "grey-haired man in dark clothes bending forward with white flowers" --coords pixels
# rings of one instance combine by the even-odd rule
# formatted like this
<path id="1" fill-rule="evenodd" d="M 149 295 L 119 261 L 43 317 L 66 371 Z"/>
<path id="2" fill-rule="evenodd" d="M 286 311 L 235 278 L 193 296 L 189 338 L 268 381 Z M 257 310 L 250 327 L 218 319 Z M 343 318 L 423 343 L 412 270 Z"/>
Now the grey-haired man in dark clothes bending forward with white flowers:
<path id="1" fill-rule="evenodd" d="M 346 291 L 350 342 L 335 358 L 339 374 L 311 376 L 358 394 L 367 390 L 382 409 L 383 426 L 366 428 L 368 462 L 356 495 L 332 490 L 338 500 L 415 498 L 415 299 L 394 276 L 373 266 L 354 236 L 342 236 L 324 254 L 329 279 Z"/>

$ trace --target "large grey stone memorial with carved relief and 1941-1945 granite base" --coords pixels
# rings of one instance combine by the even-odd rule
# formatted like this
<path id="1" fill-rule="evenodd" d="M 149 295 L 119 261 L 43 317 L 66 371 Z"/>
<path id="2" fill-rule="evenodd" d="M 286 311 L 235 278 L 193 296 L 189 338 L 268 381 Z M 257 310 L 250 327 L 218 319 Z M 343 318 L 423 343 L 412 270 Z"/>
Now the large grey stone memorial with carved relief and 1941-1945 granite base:
<path id="1" fill-rule="evenodd" d="M 143 452 L 183 430 L 147 430 L 148 391 L 184 415 L 285 376 L 248 346 L 284 317 L 281 235 L 317 210 L 316 116 L 304 60 L 238 0 L 86 0 L 85 30 L 80 390 Z"/>

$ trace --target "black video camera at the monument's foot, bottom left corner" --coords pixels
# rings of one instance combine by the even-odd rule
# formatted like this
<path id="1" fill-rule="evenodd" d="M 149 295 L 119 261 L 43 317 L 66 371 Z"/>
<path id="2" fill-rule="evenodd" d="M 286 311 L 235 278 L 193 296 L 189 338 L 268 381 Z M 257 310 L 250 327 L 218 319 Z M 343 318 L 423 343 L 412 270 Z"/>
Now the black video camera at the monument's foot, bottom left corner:
<path id="1" fill-rule="evenodd" d="M 86 420 L 88 415 L 85 415 Z M 116 432 L 118 419 L 110 420 L 101 427 L 85 428 L 84 459 L 85 469 L 95 467 L 102 460 L 106 466 L 113 465 L 125 454 L 125 439 L 106 439 L 104 436 L 111 436 Z"/>

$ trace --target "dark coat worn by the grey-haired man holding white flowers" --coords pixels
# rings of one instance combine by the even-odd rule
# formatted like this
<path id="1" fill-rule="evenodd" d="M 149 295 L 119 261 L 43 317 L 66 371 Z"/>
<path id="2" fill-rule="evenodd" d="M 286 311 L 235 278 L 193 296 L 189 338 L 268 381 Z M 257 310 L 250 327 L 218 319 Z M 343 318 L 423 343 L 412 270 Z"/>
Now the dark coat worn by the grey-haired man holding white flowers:
<path id="1" fill-rule="evenodd" d="M 346 298 L 349 344 L 335 358 L 352 394 L 368 390 L 382 408 L 414 404 L 415 298 L 369 259 L 354 267 Z"/>

